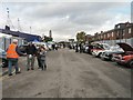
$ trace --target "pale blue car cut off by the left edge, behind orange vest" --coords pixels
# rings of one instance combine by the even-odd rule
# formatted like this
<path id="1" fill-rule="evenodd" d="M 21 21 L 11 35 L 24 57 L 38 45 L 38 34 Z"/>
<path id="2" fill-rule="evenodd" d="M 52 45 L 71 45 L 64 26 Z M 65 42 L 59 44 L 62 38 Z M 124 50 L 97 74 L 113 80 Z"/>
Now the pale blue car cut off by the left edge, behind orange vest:
<path id="1" fill-rule="evenodd" d="M 6 57 L 6 51 L 0 49 L 0 59 L 2 60 L 2 63 L 1 66 L 4 68 L 4 67 L 8 67 L 8 60 L 7 60 L 7 57 Z"/>

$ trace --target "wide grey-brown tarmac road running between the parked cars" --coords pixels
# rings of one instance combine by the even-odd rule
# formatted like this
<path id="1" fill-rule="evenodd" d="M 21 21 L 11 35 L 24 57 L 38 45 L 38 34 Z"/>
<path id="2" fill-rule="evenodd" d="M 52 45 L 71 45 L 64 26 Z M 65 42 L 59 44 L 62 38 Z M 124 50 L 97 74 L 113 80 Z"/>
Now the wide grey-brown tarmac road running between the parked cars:
<path id="1" fill-rule="evenodd" d="M 50 51 L 47 71 L 19 62 L 22 73 L 3 78 L 3 98 L 131 98 L 131 69 L 90 54 Z"/>

